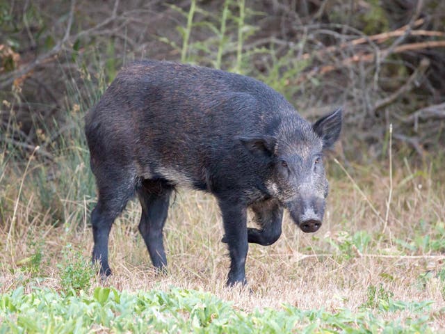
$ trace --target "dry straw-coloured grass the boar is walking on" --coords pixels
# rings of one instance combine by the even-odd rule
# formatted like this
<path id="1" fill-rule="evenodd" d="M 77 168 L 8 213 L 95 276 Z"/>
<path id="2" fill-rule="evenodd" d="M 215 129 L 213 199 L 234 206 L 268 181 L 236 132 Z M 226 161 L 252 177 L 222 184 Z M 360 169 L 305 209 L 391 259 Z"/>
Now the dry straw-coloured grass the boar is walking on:
<path id="1" fill-rule="evenodd" d="M 354 172 L 351 182 L 332 163 L 330 171 L 334 177 L 330 177 L 331 193 L 321 230 L 304 234 L 285 216 L 284 232 L 276 244 L 250 245 L 246 271 L 251 293 L 248 289 L 225 287 L 229 261 L 225 244 L 220 242 L 220 214 L 211 196 L 183 189 L 176 194 L 165 227 L 170 266 L 165 276 L 157 276 L 150 267 L 137 230 L 140 209 L 137 202 L 131 202 L 111 233 L 113 276 L 106 283 L 96 278 L 91 288 L 107 284 L 133 291 L 174 285 L 213 292 L 245 310 L 279 308 L 282 303 L 289 303 L 302 309 L 334 311 L 358 310 L 369 296 L 369 287 L 382 285 L 394 294 L 395 300 L 431 300 L 435 302 L 431 314 L 439 312 L 445 307 L 444 282 L 438 276 L 444 270 L 445 258 L 445 235 L 440 233 L 445 224 L 445 191 L 441 181 L 444 179 L 432 167 L 397 165 L 389 219 L 382 234 L 389 198 L 385 167 L 354 166 L 350 168 Z M 14 175 L 12 168 L 3 170 L 1 183 L 6 184 L 5 180 L 12 180 Z M 19 200 L 15 228 L 10 230 L 13 217 L 8 216 L 13 211 L 6 212 L 6 221 L 1 224 L 0 292 L 20 285 L 60 289 L 58 264 L 66 262 L 65 245 L 72 244 L 74 250 L 88 258 L 92 250 L 88 208 L 94 200 L 62 199 L 71 212 L 65 214 L 65 224 L 51 225 L 50 212 L 39 211 L 35 189 L 27 182 L 29 178 L 24 177 L 20 197 L 17 184 L 21 178 L 8 181 L 9 186 L 1 194 L 3 210 L 13 208 Z M 367 241 L 359 241 L 357 232 Z M 42 262 L 38 272 L 33 273 L 26 266 L 36 251 L 42 253 Z M 440 317 L 435 321 L 437 326 L 444 324 Z"/>

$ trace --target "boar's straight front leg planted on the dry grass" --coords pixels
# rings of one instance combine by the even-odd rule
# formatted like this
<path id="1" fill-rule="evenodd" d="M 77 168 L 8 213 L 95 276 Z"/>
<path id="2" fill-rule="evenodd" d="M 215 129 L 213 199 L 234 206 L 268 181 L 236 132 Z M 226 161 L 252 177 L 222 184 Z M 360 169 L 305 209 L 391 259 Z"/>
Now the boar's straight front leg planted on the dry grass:
<path id="1" fill-rule="evenodd" d="M 220 200 L 219 205 L 223 214 L 225 242 L 229 246 L 230 271 L 227 285 L 245 285 L 245 257 L 248 255 L 247 207 L 234 200 Z"/>

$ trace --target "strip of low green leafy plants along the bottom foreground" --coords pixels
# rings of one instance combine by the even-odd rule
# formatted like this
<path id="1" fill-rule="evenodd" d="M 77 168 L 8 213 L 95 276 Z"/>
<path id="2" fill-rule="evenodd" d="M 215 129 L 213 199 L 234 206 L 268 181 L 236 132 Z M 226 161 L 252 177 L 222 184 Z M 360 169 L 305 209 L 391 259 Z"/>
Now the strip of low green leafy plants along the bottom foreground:
<path id="1" fill-rule="evenodd" d="M 147 292 L 97 287 L 77 296 L 38 288 L 25 293 L 20 287 L 0 295 L 0 333 L 435 333 L 428 327 L 431 303 L 387 297 L 359 312 L 292 305 L 245 312 L 209 292 L 175 287 Z M 405 310 L 413 317 L 385 319 Z"/>

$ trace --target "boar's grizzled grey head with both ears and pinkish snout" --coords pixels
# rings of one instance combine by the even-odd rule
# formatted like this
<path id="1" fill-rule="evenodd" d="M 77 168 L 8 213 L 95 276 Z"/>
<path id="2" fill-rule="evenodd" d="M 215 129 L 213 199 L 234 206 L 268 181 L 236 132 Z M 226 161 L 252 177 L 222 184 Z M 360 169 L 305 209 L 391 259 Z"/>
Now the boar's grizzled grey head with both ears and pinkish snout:
<path id="1" fill-rule="evenodd" d="M 271 173 L 266 187 L 303 232 L 316 232 L 323 221 L 329 190 L 323 152 L 332 148 L 340 131 L 341 109 L 337 109 L 313 125 L 289 118 L 281 120 L 272 136 L 240 138 L 252 154 L 267 159 Z"/>

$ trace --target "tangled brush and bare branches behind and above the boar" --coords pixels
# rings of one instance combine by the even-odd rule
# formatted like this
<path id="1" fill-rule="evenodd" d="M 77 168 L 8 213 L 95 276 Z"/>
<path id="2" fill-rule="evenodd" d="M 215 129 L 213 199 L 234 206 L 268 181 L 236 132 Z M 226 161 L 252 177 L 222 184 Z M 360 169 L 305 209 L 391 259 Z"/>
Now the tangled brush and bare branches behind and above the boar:
<path id="1" fill-rule="evenodd" d="M 350 159 L 385 158 L 390 122 L 403 152 L 423 156 L 444 143 L 443 1 L 69 2 L 0 3 L 0 101 L 13 106 L 0 129 L 17 122 L 6 131 L 15 145 L 36 145 L 42 123 L 51 136 L 53 118 L 65 122 L 66 79 L 85 93 L 79 72 L 108 84 L 139 58 L 248 74 L 305 116 L 343 105 Z"/>

